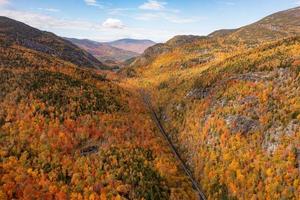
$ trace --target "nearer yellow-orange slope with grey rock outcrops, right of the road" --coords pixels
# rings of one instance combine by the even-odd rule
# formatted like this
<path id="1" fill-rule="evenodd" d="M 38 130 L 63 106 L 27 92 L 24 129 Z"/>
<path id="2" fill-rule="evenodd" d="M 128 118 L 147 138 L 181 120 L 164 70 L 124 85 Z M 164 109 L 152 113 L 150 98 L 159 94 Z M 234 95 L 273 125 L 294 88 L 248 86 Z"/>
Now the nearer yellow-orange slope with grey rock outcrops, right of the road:
<path id="1" fill-rule="evenodd" d="M 210 198 L 299 198 L 299 47 L 288 39 L 213 65 L 192 84 L 164 82 L 161 118 Z"/>

